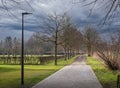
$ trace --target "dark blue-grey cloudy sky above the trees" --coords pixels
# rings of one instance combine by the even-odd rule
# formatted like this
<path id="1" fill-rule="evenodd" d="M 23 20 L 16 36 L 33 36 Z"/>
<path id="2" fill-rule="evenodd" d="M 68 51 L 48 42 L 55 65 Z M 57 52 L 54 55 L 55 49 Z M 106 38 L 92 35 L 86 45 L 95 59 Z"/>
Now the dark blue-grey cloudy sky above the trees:
<path id="1" fill-rule="evenodd" d="M 41 30 L 42 21 L 48 14 L 62 14 L 67 12 L 78 29 L 83 29 L 85 25 L 98 25 L 105 16 L 106 7 L 102 7 L 103 0 L 92 5 L 85 6 L 92 0 L 4 0 L 0 2 L 0 39 L 6 36 L 21 37 L 21 13 L 31 12 L 25 16 L 25 38 L 28 39 L 34 32 Z M 88 2 L 89 1 L 89 2 Z M 107 1 L 107 0 L 106 0 Z M 91 8 L 92 14 L 89 16 Z M 115 29 L 119 24 L 119 16 L 112 24 L 99 27 L 101 33 L 106 33 L 108 28 Z"/>

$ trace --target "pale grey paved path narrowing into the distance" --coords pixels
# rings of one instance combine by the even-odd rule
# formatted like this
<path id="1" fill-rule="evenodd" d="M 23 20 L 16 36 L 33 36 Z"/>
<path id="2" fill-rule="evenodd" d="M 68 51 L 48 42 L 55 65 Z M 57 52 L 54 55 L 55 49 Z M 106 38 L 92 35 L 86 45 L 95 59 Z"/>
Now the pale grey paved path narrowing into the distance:
<path id="1" fill-rule="evenodd" d="M 65 66 L 33 88 L 102 88 L 93 70 L 85 64 L 85 57 Z"/>

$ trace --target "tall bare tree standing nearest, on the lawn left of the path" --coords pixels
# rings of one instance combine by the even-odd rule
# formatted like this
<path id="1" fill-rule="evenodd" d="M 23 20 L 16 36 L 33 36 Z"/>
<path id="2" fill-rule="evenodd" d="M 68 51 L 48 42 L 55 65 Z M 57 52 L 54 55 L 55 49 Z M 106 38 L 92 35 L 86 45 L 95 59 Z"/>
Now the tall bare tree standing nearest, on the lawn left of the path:
<path id="1" fill-rule="evenodd" d="M 55 65 L 57 65 L 58 45 L 61 44 L 60 36 L 64 30 L 65 21 L 65 14 L 57 15 L 56 13 L 49 15 L 44 21 L 43 34 L 46 36 L 46 38 L 44 37 L 44 40 L 51 41 L 55 45 Z"/>

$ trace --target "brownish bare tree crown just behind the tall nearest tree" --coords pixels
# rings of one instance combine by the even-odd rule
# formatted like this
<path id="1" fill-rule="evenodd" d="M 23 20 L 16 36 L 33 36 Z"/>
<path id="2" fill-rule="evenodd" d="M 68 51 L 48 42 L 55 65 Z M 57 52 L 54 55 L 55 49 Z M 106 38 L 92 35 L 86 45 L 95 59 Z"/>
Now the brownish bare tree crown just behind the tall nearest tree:
<path id="1" fill-rule="evenodd" d="M 82 44 L 82 34 L 73 24 L 71 24 L 63 31 L 61 40 L 63 40 L 61 45 L 64 48 L 65 56 L 68 56 L 69 59 L 69 56 L 72 56 L 76 51 L 79 51 Z"/>

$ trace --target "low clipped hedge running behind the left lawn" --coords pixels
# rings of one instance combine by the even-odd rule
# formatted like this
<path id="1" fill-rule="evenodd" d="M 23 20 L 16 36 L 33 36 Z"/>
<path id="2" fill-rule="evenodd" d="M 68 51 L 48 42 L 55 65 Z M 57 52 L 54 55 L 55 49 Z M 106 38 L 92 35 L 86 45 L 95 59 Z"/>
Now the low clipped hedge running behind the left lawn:
<path id="1" fill-rule="evenodd" d="M 58 55 L 58 59 L 63 58 L 63 55 Z M 45 64 L 49 61 L 54 60 L 54 56 L 34 56 L 28 55 L 24 57 L 24 64 Z M 20 64 L 21 57 L 20 56 L 0 56 L 0 64 Z"/>

